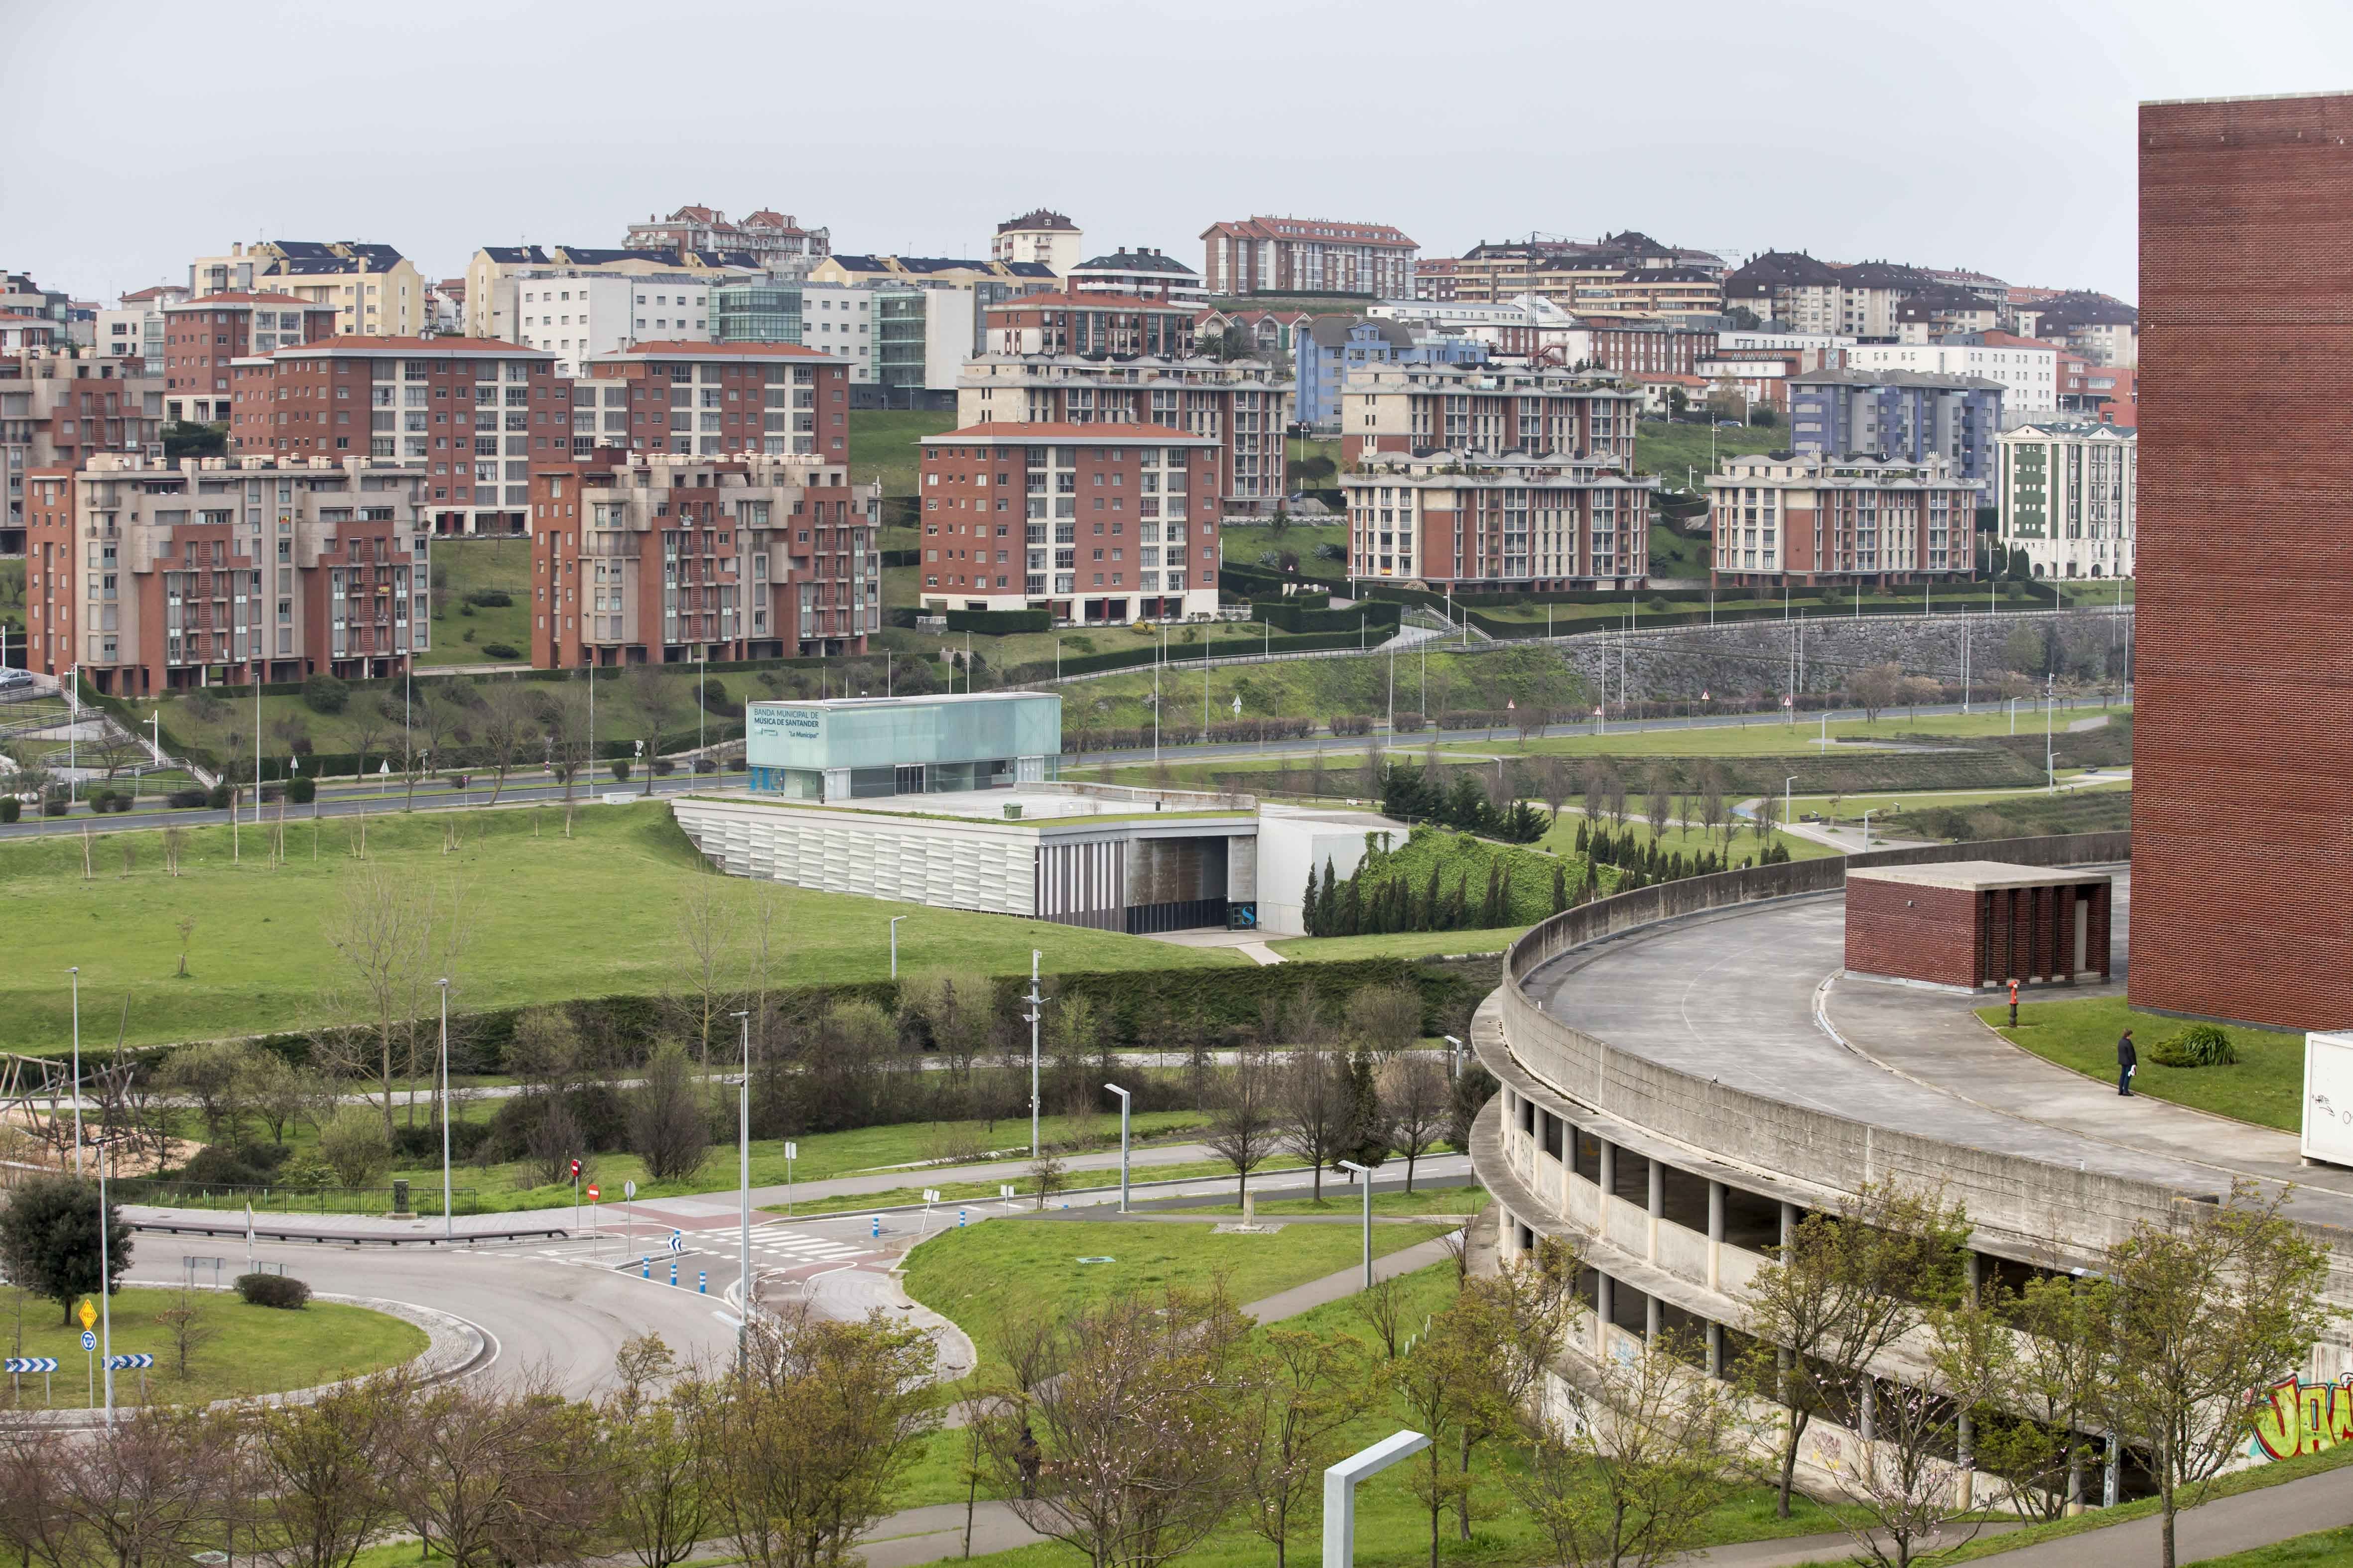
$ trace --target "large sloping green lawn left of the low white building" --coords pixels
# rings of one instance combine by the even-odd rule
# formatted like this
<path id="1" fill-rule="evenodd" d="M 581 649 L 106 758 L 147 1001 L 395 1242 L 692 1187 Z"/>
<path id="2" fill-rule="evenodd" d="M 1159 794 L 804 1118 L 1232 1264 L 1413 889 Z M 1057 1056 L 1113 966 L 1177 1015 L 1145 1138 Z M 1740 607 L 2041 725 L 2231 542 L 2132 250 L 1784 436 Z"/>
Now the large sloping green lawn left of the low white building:
<path id="1" fill-rule="evenodd" d="M 454 818 L 461 849 L 442 853 Z M 351 818 L 287 823 L 287 860 L 271 867 L 261 835 L 245 830 L 245 863 L 231 865 L 231 830 L 195 827 L 184 875 L 162 872 L 153 832 L 94 835 L 96 879 L 82 879 L 80 839 L 0 846 L 0 898 L 9 907 L 9 961 L 0 966 L 0 1048 L 52 1051 L 68 1041 L 66 966 L 82 969 L 82 1006 L 122 1020 L 129 1044 L 289 1030 L 325 1020 L 320 992 L 334 978 L 325 924 L 344 905 L 358 865 Z M 456 1009 L 518 1006 L 598 994 L 649 994 L 682 980 L 678 912 L 689 886 L 718 886 L 736 910 L 774 898 L 784 961 L 779 985 L 878 980 L 889 973 L 887 922 L 901 964 L 1012 973 L 1028 966 L 1040 926 L 1005 914 L 882 905 L 849 893 L 812 893 L 741 877 L 711 877 L 666 804 L 581 806 L 565 837 L 562 806 L 400 816 L 367 820 L 367 853 L 402 867 L 438 896 L 466 889 L 471 938 L 452 987 Z M 113 839 L 136 870 L 118 875 Z M 315 858 L 313 858 L 315 856 Z M 626 912 L 626 917 L 624 917 Z M 195 919 L 188 978 L 174 978 L 181 917 Z M 264 931 L 261 926 L 268 926 Z M 1247 961 L 1108 931 L 1056 926 L 1049 971 L 1172 969 Z"/>

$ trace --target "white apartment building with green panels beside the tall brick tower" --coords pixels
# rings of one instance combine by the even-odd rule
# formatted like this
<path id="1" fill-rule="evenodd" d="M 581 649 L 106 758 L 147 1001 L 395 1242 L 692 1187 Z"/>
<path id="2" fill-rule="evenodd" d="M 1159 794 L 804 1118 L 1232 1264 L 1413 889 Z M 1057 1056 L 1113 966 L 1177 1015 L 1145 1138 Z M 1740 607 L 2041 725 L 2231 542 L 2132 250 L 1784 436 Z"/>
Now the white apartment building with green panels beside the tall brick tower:
<path id="1" fill-rule="evenodd" d="M 2125 425 L 2045 421 L 2000 435 L 2000 541 L 2035 576 L 2132 576 L 2139 437 Z"/>

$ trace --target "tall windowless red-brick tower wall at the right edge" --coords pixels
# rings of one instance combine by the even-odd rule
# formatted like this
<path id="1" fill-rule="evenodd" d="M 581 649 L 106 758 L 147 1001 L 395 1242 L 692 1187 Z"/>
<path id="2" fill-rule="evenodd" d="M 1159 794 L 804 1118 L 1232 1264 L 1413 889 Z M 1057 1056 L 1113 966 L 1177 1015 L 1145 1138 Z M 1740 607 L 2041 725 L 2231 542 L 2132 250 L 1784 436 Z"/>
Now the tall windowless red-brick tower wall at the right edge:
<path id="1" fill-rule="evenodd" d="M 2348 141 L 2348 94 L 2141 106 L 2144 1009 L 2353 1020 Z"/>

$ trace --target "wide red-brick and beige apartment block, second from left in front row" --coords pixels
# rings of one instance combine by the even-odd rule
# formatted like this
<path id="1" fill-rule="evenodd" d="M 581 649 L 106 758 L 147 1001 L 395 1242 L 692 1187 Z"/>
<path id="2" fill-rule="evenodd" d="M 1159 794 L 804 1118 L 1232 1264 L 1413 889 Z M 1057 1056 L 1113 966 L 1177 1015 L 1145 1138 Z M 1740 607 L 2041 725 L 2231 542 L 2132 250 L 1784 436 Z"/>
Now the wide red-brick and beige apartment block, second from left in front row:
<path id="1" fill-rule="evenodd" d="M 873 491 L 840 461 L 607 447 L 532 494 L 544 670 L 864 654 L 882 630 Z"/>

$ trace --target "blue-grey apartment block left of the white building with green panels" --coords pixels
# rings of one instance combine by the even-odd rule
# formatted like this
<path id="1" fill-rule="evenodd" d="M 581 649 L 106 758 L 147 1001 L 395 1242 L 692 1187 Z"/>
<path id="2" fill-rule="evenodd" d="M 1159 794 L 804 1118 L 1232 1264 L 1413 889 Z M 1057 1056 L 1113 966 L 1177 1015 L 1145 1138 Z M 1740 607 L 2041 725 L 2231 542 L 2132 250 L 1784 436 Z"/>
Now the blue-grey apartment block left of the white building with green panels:
<path id="1" fill-rule="evenodd" d="M 1920 371 L 1807 371 L 1788 381 L 1788 433 L 1793 451 L 1833 458 L 1946 458 L 1991 505 L 2002 383 Z"/>

